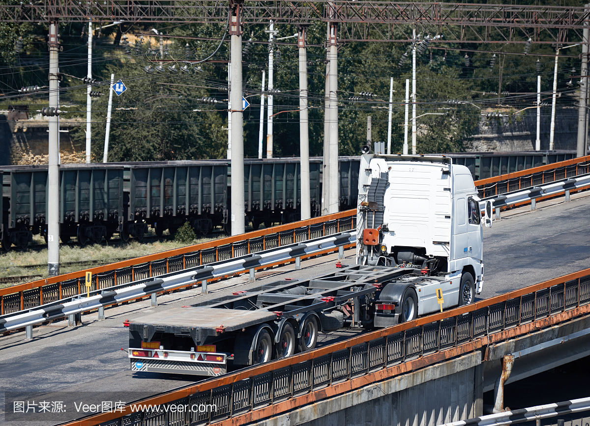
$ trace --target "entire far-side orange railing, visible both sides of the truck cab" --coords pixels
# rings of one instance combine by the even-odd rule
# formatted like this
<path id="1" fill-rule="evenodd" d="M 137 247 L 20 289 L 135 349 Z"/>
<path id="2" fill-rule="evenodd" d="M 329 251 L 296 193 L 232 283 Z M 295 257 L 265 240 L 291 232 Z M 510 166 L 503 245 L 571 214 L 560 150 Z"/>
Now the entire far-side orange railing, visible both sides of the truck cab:
<path id="1" fill-rule="evenodd" d="M 577 162 L 581 161 L 581 163 Z M 526 169 L 508 175 L 476 181 L 480 198 L 494 198 L 508 192 L 520 191 L 525 186 L 539 186 L 564 178 L 576 178 L 590 172 L 590 156 L 552 163 L 538 168 Z M 566 189 L 562 188 L 561 192 Z M 556 192 L 555 195 L 558 193 Z M 540 199 L 545 195 L 539 194 Z M 528 198 L 526 201 L 530 201 Z M 516 201 L 516 202 L 523 202 Z M 506 206 L 505 202 L 502 207 Z M 221 238 L 208 243 L 191 245 L 176 250 L 155 253 L 135 259 L 94 267 L 85 271 L 93 273 L 91 290 L 100 290 L 116 284 L 125 284 L 139 278 L 158 276 L 163 273 L 178 271 L 180 268 L 198 266 L 199 264 L 223 260 L 234 255 L 253 253 L 253 250 L 264 250 L 279 247 L 281 244 L 293 244 L 304 241 L 301 234 L 307 228 L 308 239 L 318 237 L 318 227 L 323 233 L 339 231 L 341 223 L 348 223 L 356 217 L 355 210 L 339 212 L 307 219 L 293 224 L 280 225 L 265 230 L 248 232 L 248 234 Z M 327 229 L 327 231 L 326 231 Z M 18 286 L 0 289 L 0 314 L 17 312 L 42 304 L 52 303 L 65 297 L 73 297 L 84 293 L 84 273 L 77 271 L 57 277 L 19 284 Z"/>

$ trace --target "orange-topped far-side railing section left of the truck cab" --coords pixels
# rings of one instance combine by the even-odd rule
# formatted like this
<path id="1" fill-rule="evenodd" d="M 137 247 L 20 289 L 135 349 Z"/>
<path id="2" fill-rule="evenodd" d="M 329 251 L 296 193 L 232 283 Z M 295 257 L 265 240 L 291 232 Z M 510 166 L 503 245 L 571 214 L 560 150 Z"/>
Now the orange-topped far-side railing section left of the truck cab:
<path id="1" fill-rule="evenodd" d="M 129 284 L 140 279 L 158 277 L 185 268 L 301 243 L 355 228 L 356 211 L 351 210 L 94 267 L 86 271 L 92 272 L 90 291 L 104 290 L 107 287 Z M 301 258 L 306 257 L 306 255 L 301 256 Z M 268 266 L 270 265 L 265 267 Z M 261 266 L 256 267 L 256 269 L 258 268 Z M 86 271 L 77 271 L 0 289 L 0 314 L 5 315 L 32 309 L 84 294 L 86 293 Z M 211 281 L 223 277 L 215 277 Z"/>

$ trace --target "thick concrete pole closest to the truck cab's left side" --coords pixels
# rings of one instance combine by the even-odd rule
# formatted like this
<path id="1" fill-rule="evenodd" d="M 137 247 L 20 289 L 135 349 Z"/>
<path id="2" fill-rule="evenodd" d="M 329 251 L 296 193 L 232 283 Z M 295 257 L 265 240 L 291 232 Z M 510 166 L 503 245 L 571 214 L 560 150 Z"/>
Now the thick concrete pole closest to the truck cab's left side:
<path id="1" fill-rule="evenodd" d="M 335 15 L 334 2 L 329 3 L 330 15 Z M 330 22 L 330 192 L 328 212 L 337 213 L 340 185 L 338 182 L 338 42 L 336 22 Z"/>

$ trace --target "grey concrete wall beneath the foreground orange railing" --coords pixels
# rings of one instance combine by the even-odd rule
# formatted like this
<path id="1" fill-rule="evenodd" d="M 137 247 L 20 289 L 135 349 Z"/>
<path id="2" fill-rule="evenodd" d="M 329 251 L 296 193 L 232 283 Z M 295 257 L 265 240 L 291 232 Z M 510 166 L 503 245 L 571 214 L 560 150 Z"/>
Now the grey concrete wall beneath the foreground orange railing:
<path id="1" fill-rule="evenodd" d="M 258 422 L 264 426 L 435 426 L 483 410 L 481 353 L 365 386 Z"/>

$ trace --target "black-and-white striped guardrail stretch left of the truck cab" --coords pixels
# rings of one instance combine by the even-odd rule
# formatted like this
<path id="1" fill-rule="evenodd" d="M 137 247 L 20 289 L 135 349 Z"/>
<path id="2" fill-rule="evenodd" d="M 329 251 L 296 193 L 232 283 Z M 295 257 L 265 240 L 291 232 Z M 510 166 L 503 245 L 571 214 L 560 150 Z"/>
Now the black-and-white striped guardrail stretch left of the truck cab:
<path id="1" fill-rule="evenodd" d="M 173 290 L 192 283 L 210 280 L 211 278 L 236 274 L 251 268 L 264 267 L 281 261 L 292 260 L 303 255 L 319 253 L 320 251 L 342 247 L 355 242 L 356 233 L 340 232 L 339 234 L 332 234 L 327 237 L 304 241 L 303 243 L 283 245 L 271 250 L 259 251 L 230 260 L 209 263 L 188 268 L 180 272 L 138 280 L 135 281 L 136 284 L 108 287 L 107 289 L 91 292 L 90 297 L 68 297 L 68 299 L 57 300 L 53 303 L 0 316 L 0 333 L 41 324 L 87 310 L 126 302 L 127 300 L 148 296 L 159 291 Z"/>

